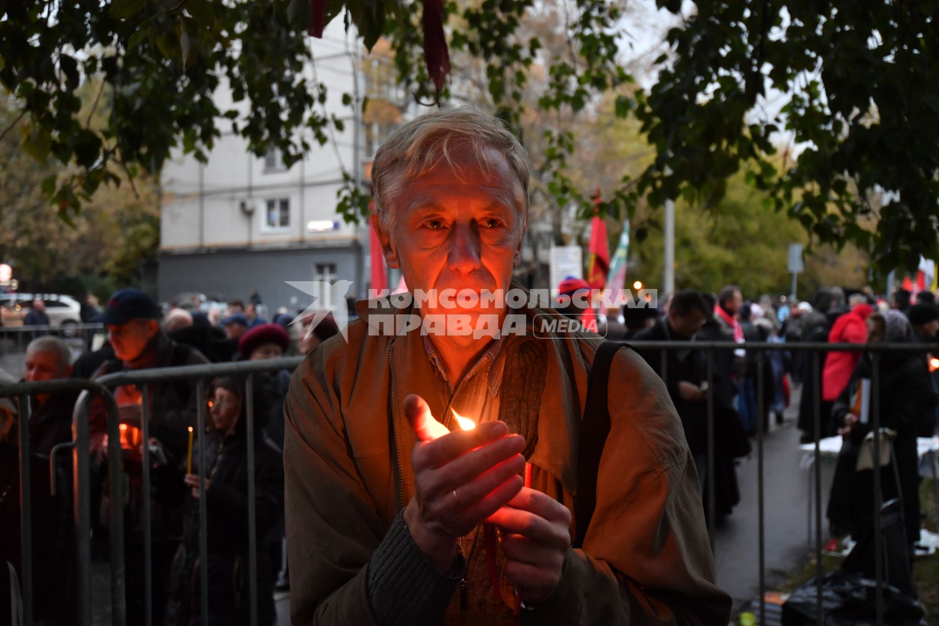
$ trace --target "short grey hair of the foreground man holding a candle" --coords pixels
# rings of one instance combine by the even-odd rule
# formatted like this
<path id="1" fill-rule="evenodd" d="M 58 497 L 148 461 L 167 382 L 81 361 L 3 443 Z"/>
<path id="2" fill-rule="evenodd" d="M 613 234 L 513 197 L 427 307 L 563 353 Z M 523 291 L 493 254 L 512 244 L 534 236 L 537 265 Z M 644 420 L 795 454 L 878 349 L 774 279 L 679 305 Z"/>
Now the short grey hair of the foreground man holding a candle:
<path id="1" fill-rule="evenodd" d="M 386 229 L 393 224 L 394 203 L 402 183 L 415 180 L 445 161 L 458 172 L 454 152 L 468 154 L 484 168 L 491 167 L 486 148 L 498 150 L 516 175 L 516 208 L 529 209 L 528 153 L 500 119 L 470 108 L 444 109 L 415 117 L 392 133 L 375 154 L 372 185 L 375 212 Z"/>

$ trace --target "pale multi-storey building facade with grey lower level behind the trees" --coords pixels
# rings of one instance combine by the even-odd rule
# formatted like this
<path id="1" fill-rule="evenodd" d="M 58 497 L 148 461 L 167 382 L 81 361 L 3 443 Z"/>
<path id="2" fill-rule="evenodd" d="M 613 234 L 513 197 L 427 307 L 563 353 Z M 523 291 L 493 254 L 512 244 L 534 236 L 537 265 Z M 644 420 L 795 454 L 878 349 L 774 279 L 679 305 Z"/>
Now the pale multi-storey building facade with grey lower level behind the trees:
<path id="1" fill-rule="evenodd" d="M 162 173 L 162 301 L 183 292 L 246 299 L 256 289 L 270 311 L 284 306 L 296 312 L 311 297 L 287 281 L 336 279 L 353 282 L 350 296 L 365 294 L 367 231 L 336 213 L 344 174 L 360 176 L 364 160 L 362 121 L 343 104 L 344 94 L 354 96 L 361 87 L 359 42 L 334 20 L 311 47 L 307 79 L 327 87 L 317 113 L 335 115 L 344 130 L 328 131 L 325 145 L 307 137 L 310 152 L 289 168 L 276 151 L 255 156 L 230 131 L 216 140 L 205 164 L 174 154 Z M 240 105 L 223 87 L 216 103 L 220 111 Z"/>

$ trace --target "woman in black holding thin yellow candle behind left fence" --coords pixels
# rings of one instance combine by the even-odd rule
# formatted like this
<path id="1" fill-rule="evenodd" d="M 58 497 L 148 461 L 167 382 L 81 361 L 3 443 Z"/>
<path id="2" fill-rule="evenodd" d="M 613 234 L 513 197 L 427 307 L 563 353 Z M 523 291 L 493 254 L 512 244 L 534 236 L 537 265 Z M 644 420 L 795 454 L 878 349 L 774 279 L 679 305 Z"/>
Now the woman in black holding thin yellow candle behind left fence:
<path id="1" fill-rule="evenodd" d="M 263 389 L 254 387 L 254 505 L 256 511 L 257 616 L 272 625 L 277 614 L 268 535 L 284 515 L 284 465 L 280 451 L 264 435 L 268 411 Z M 183 479 L 191 489 L 192 507 L 184 540 L 170 578 L 166 623 L 201 624 L 198 474 L 206 474 L 208 528 L 208 610 L 211 624 L 250 623 L 248 528 L 248 428 L 244 382 L 223 376 L 208 389 L 209 424 L 205 462 L 193 444 L 192 474 Z"/>

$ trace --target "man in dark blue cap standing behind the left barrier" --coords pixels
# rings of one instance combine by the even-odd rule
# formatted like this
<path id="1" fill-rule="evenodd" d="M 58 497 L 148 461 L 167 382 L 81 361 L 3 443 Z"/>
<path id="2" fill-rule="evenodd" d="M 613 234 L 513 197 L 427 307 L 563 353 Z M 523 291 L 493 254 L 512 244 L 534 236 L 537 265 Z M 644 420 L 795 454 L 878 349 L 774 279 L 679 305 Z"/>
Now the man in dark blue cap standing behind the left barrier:
<path id="1" fill-rule="evenodd" d="M 184 344 L 177 344 L 160 327 L 162 310 L 139 289 L 122 289 L 108 299 L 104 313 L 95 318 L 108 329 L 108 342 L 114 348 L 115 358 L 105 360 L 92 378 L 123 370 L 143 370 L 180 365 L 208 363 L 201 352 Z M 128 425 L 127 432 L 140 428 L 143 421 L 143 393 L 141 387 L 124 385 L 115 388 L 115 400 L 120 409 L 121 422 Z M 153 623 L 162 623 L 166 604 L 165 581 L 168 579 L 172 557 L 181 535 L 184 501 L 175 497 L 180 477 L 176 467 L 185 462 L 189 427 L 196 426 L 196 380 L 167 381 L 147 385 L 148 445 L 154 469 L 151 472 L 150 511 L 152 528 L 152 580 Z M 103 460 L 107 453 L 107 417 L 100 399 L 95 400 L 89 414 L 91 450 Z M 131 439 L 131 437 L 128 437 Z M 124 442 L 122 442 L 123 444 Z M 124 466 L 130 476 L 129 523 L 125 526 L 125 562 L 127 571 L 127 611 L 129 623 L 144 622 L 144 541 L 142 533 L 141 501 L 143 485 L 141 473 L 141 447 L 124 445 Z M 104 474 L 105 472 L 101 472 Z M 109 519 L 110 502 L 104 494 L 101 521 Z"/>

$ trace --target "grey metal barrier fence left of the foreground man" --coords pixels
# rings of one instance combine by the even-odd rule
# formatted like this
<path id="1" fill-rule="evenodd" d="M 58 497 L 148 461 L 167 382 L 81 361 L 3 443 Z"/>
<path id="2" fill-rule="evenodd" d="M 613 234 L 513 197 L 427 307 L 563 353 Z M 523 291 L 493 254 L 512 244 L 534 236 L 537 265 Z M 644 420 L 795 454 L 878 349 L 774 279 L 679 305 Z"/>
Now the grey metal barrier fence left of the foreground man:
<path id="1" fill-rule="evenodd" d="M 22 594 L 23 594 L 23 622 L 26 626 L 33 623 L 33 563 L 31 532 L 32 502 L 30 477 L 30 444 L 29 444 L 29 396 L 37 393 L 58 393 L 81 390 L 72 416 L 72 441 L 54 446 L 49 464 L 51 476 L 54 481 L 55 456 L 61 450 L 71 449 L 73 467 L 73 507 L 75 524 L 75 552 L 77 560 L 76 585 L 78 612 L 76 621 L 82 626 L 91 624 L 91 510 L 90 510 L 90 451 L 88 441 L 88 413 L 91 400 L 94 396 L 100 397 L 107 412 L 108 435 L 108 486 L 110 507 L 110 541 L 111 541 L 111 610 L 112 623 L 115 626 L 124 626 L 127 623 L 127 610 L 125 598 L 126 576 L 124 570 L 124 507 L 125 481 L 122 472 L 122 450 L 120 437 L 120 416 L 114 394 L 109 389 L 122 385 L 140 385 L 142 393 L 141 440 L 149 441 L 148 421 L 149 406 L 147 385 L 174 380 L 196 379 L 196 431 L 199 437 L 199 458 L 205 459 L 205 437 L 201 436 L 206 430 L 206 379 L 226 374 L 246 376 L 245 380 L 245 408 L 248 448 L 248 527 L 249 527 L 249 602 L 251 623 L 257 624 L 257 545 L 256 545 L 256 511 L 254 503 L 254 405 L 253 405 L 253 378 L 254 374 L 271 372 L 282 369 L 294 369 L 300 364 L 301 357 L 286 359 L 268 359 L 254 361 L 240 361 L 235 363 L 217 363 L 208 365 L 188 365 L 182 367 L 162 368 L 156 370 L 136 370 L 107 374 L 89 381 L 75 378 L 49 380 L 34 383 L 17 383 L 15 385 L 0 385 L 0 397 L 19 397 L 20 423 L 27 425 L 20 431 L 20 515 L 22 537 Z M 142 493 L 150 493 L 150 451 L 149 446 L 143 446 L 142 459 Z M 54 484 L 51 485 L 54 493 Z M 206 492 L 206 476 L 204 471 L 199 472 L 199 491 Z M 151 521 L 150 498 L 143 497 L 142 518 L 144 522 L 144 575 L 145 575 L 145 623 L 151 626 L 153 585 L 151 580 L 152 554 L 151 554 Z M 203 567 L 200 572 L 201 590 L 201 618 L 203 624 L 208 624 L 208 540 L 207 540 L 207 511 L 206 498 L 199 498 L 199 561 Z M 3 591 L 6 592 L 6 591 Z"/>

